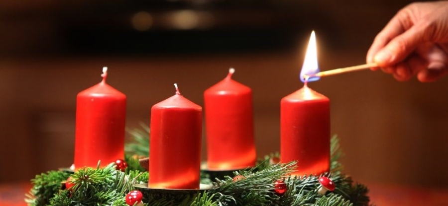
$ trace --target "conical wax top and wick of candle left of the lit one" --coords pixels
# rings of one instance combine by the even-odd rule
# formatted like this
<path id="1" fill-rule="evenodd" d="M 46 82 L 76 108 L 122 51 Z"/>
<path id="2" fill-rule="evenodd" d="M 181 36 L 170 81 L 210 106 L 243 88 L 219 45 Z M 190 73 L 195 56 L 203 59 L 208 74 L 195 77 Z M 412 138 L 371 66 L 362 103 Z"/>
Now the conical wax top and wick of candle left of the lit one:
<path id="1" fill-rule="evenodd" d="M 215 93 L 216 92 L 221 95 L 240 94 L 240 93 L 250 92 L 251 89 L 249 87 L 232 79 L 232 74 L 234 72 L 235 72 L 235 69 L 233 69 L 233 68 L 228 69 L 227 76 L 220 82 L 218 82 L 215 85 L 208 88 L 205 92 L 206 93 L 209 93 L 209 92 Z"/>

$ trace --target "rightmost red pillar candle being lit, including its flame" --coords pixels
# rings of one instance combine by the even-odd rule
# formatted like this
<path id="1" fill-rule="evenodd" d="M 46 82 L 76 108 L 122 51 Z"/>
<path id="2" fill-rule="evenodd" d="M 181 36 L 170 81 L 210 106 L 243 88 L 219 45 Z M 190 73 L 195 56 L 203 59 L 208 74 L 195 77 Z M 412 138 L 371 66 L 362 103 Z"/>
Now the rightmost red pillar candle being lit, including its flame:
<path id="1" fill-rule="evenodd" d="M 313 31 L 301 79 L 318 71 Z M 330 100 L 310 89 L 306 81 L 280 102 L 280 154 L 281 162 L 298 161 L 293 175 L 319 175 L 330 169 Z"/>

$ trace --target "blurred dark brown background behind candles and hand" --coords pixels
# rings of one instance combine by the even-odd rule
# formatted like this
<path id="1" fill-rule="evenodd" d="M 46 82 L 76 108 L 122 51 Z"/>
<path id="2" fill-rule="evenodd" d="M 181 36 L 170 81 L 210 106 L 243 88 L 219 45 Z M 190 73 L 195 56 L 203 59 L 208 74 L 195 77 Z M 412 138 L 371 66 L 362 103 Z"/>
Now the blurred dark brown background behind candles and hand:
<path id="1" fill-rule="evenodd" d="M 103 66 L 127 95 L 129 128 L 149 124 L 173 83 L 203 106 L 204 90 L 234 67 L 253 90 L 258 156 L 279 151 L 279 102 L 303 85 L 311 31 L 321 70 L 364 64 L 377 32 L 410 2 L 0 0 L 0 182 L 72 164 L 76 95 L 101 81 Z M 447 85 L 369 70 L 310 83 L 331 99 L 346 173 L 422 187 L 448 184 Z"/>

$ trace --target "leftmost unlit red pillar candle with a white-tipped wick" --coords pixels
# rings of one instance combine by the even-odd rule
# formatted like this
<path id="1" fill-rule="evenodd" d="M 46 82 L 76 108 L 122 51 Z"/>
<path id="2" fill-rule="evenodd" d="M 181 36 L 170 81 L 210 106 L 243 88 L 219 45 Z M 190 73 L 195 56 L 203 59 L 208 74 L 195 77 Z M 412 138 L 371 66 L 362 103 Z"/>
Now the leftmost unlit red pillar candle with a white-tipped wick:
<path id="1" fill-rule="evenodd" d="M 124 158 L 126 96 L 103 81 L 76 97 L 75 169 Z"/>

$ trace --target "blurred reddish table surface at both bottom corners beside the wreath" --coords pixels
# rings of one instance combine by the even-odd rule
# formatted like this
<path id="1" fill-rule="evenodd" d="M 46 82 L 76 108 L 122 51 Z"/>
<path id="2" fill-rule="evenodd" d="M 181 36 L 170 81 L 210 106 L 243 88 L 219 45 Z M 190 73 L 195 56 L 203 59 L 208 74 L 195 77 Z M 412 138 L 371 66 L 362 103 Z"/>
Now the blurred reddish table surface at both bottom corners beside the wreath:
<path id="1" fill-rule="evenodd" d="M 387 184 L 366 184 L 370 203 L 376 206 L 448 206 L 448 189 L 405 187 Z M 26 206 L 29 183 L 1 184 L 1 206 Z"/>

